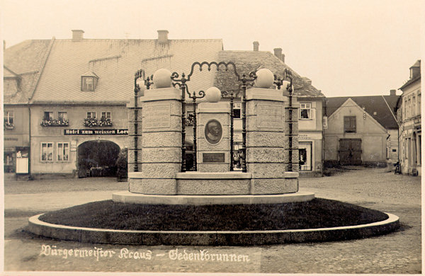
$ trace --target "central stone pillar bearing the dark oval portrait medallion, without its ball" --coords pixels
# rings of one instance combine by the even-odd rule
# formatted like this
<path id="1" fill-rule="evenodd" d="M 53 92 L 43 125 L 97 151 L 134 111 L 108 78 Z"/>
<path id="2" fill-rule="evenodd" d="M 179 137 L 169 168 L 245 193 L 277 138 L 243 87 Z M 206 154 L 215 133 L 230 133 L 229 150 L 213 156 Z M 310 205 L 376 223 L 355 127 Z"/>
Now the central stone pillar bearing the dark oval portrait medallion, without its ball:
<path id="1" fill-rule="evenodd" d="M 229 103 L 199 103 L 196 113 L 198 171 L 230 171 Z"/>

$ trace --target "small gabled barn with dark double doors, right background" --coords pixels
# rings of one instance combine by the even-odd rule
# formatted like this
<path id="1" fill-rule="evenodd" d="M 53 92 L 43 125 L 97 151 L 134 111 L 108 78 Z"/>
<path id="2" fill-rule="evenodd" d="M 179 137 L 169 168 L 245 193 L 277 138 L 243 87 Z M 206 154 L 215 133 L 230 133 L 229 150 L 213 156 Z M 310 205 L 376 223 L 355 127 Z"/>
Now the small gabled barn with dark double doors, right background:
<path id="1" fill-rule="evenodd" d="M 395 90 L 386 96 L 327 98 L 325 166 L 387 166 L 396 163 Z"/>

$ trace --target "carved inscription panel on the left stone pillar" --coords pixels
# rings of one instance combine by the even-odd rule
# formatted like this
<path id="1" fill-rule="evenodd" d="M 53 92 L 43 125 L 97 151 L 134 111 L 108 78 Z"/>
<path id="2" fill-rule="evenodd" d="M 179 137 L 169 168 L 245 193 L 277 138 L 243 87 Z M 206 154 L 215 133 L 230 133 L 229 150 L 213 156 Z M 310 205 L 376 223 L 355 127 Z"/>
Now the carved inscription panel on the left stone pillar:
<path id="1" fill-rule="evenodd" d="M 143 108 L 145 128 L 169 128 L 171 126 L 170 104 L 151 105 Z"/>

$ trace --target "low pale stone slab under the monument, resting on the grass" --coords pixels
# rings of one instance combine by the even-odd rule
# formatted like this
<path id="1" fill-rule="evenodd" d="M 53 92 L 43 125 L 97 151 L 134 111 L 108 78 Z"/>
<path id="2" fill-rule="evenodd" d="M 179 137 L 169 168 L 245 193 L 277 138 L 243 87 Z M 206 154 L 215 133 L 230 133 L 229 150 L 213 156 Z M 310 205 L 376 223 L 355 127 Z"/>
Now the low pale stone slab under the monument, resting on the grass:
<path id="1" fill-rule="evenodd" d="M 166 205 L 232 205 L 305 202 L 314 199 L 314 192 L 293 192 L 278 195 L 145 195 L 135 192 L 114 192 L 112 200 L 123 203 Z"/>

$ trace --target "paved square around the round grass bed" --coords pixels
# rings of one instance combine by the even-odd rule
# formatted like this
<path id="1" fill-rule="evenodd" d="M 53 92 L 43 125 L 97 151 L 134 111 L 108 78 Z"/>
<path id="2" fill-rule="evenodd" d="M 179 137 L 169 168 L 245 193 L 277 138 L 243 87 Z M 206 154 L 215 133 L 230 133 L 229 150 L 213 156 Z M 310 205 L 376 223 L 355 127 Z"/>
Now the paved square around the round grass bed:
<path id="1" fill-rule="evenodd" d="M 127 190 L 127 183 L 113 178 L 13 181 L 4 189 L 8 271 L 421 273 L 421 179 L 383 169 L 300 178 L 300 190 L 396 214 L 400 231 L 353 241 L 275 246 L 123 246 L 40 238 L 23 231 L 30 215 L 110 199 L 112 191 Z M 99 248 L 108 253 L 94 254 Z M 65 249 L 67 254 L 72 249 L 72 255 L 63 255 Z M 196 256 L 199 260 L 191 260 Z"/>

